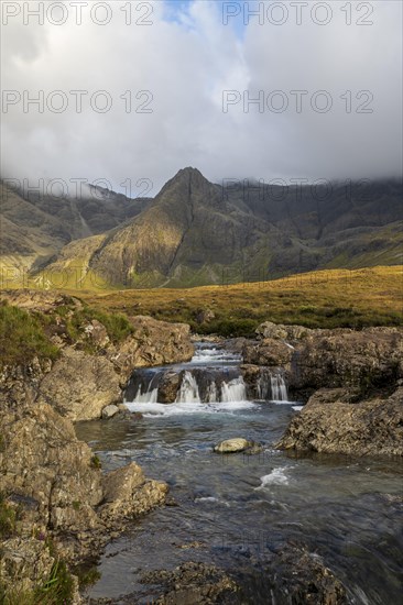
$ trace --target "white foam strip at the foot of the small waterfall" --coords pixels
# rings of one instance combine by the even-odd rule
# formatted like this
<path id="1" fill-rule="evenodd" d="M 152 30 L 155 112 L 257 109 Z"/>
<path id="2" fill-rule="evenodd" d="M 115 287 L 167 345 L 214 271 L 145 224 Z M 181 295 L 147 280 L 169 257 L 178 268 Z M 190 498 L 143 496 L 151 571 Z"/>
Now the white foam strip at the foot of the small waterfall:
<path id="1" fill-rule="evenodd" d="M 238 409 L 251 409 L 254 404 L 251 402 L 221 402 L 217 404 L 198 404 L 198 403 L 175 403 L 175 404 L 150 404 L 150 403 L 126 403 L 126 407 L 130 411 L 141 411 L 145 418 L 154 418 L 155 416 L 177 416 L 185 414 L 217 414 L 231 413 Z"/>

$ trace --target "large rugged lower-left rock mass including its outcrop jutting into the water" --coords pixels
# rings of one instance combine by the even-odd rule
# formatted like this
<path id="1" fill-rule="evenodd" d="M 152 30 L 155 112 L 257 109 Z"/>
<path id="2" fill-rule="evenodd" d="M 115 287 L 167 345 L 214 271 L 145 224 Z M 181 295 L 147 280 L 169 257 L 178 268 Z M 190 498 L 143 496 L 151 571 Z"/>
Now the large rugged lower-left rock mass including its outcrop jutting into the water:
<path id="1" fill-rule="evenodd" d="M 99 551 L 111 531 L 164 502 L 167 486 L 134 463 L 104 474 L 70 420 L 47 404 L 0 408 L 0 490 L 18 506 L 18 537 L 52 536 L 68 561 Z"/>

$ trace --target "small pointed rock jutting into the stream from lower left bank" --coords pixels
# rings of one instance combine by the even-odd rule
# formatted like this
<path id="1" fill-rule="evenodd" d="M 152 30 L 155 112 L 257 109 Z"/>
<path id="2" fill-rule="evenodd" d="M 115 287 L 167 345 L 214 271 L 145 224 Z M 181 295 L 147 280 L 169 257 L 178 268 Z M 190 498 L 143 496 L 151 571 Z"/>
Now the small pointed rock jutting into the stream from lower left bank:
<path id="1" fill-rule="evenodd" d="M 99 509 L 102 519 L 117 519 L 142 515 L 163 504 L 166 483 L 148 481 L 141 468 L 131 462 L 104 477 L 104 502 Z"/>

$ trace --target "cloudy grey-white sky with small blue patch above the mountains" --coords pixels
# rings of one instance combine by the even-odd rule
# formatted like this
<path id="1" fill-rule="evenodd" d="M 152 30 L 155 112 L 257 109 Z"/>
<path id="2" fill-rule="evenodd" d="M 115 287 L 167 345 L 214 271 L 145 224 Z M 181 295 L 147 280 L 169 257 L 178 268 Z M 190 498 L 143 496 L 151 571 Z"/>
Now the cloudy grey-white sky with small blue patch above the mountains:
<path id="1" fill-rule="evenodd" d="M 246 23 L 259 2 L 132 2 L 130 15 L 113 0 L 92 12 L 100 25 L 88 0 L 77 25 L 72 2 L 45 2 L 42 25 L 23 10 L 37 2 L 2 2 L 2 176 L 130 179 L 134 197 L 185 166 L 213 182 L 400 175 L 402 3 L 305 3 L 260 2 Z M 40 90 L 43 112 L 24 108 Z M 80 113 L 72 90 L 88 91 Z M 105 113 L 102 95 L 89 101 L 100 90 Z"/>

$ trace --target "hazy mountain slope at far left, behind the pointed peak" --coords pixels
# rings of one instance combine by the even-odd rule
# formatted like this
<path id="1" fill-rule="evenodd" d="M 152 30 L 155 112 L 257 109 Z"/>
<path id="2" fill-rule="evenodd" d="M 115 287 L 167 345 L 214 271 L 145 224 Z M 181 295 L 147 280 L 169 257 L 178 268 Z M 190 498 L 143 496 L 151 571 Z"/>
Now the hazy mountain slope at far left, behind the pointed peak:
<path id="1" fill-rule="evenodd" d="M 139 215 L 149 199 L 129 199 L 92 187 L 86 196 L 24 195 L 0 182 L 0 265 L 3 271 L 37 271 L 64 245 L 110 230 Z"/>

